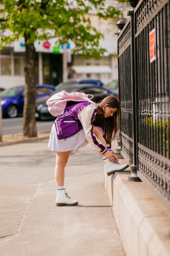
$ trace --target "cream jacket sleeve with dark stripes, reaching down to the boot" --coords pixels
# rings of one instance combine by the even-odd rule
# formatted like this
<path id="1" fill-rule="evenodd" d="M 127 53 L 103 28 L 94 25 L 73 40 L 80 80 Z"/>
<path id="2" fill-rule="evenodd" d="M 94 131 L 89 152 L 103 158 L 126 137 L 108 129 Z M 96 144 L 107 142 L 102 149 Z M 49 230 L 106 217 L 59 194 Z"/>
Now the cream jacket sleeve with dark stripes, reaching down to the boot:
<path id="1" fill-rule="evenodd" d="M 102 144 L 102 142 L 97 139 L 97 137 L 93 133 L 92 121 L 96 113 L 96 106 L 94 104 L 90 104 L 78 113 L 78 119 L 81 121 L 87 141 L 89 141 L 89 143 L 92 144 L 92 146 L 94 146 L 96 150 L 104 154 L 107 151 L 107 148 L 105 148 L 104 144 Z"/>

